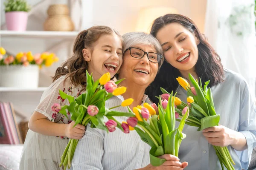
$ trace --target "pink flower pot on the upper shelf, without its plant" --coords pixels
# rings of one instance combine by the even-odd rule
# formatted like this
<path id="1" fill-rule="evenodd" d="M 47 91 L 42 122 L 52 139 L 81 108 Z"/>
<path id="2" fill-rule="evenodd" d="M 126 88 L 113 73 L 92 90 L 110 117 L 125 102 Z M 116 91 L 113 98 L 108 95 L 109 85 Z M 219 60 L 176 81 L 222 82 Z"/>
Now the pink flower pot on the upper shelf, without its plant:
<path id="1" fill-rule="evenodd" d="M 28 13 L 24 11 L 6 12 L 6 26 L 10 31 L 26 31 Z"/>

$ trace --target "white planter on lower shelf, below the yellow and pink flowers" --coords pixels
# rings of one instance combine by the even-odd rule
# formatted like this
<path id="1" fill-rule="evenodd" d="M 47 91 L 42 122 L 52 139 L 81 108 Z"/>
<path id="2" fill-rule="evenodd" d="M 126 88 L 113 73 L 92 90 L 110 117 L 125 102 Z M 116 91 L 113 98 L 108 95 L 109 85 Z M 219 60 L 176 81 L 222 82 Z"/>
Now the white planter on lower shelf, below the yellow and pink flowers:
<path id="1" fill-rule="evenodd" d="M 38 65 L 1 65 L 0 86 L 17 88 L 38 88 Z"/>

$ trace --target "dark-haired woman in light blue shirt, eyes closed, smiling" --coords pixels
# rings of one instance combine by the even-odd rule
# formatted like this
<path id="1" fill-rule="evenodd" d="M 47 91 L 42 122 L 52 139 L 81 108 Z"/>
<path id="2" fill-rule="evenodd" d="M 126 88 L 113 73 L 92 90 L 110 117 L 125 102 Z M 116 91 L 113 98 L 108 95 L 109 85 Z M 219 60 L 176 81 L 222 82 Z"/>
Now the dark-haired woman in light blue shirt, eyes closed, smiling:
<path id="1" fill-rule="evenodd" d="M 245 79 L 223 68 L 218 54 L 188 17 L 179 14 L 159 17 L 152 25 L 151 34 L 160 41 L 166 61 L 147 89 L 150 99 L 155 101 L 154 96 L 159 96 L 163 87 L 169 92 L 177 91 L 177 97 L 186 101 L 186 91 L 176 78 L 189 80 L 188 73 L 191 73 L 202 82 L 210 80 L 215 110 L 221 115 L 219 126 L 202 132 L 184 126 L 186 139 L 180 145 L 180 160 L 188 161 L 189 170 L 221 170 L 212 145 L 228 146 L 236 163 L 234 168 L 247 170 L 256 147 L 256 107 Z"/>

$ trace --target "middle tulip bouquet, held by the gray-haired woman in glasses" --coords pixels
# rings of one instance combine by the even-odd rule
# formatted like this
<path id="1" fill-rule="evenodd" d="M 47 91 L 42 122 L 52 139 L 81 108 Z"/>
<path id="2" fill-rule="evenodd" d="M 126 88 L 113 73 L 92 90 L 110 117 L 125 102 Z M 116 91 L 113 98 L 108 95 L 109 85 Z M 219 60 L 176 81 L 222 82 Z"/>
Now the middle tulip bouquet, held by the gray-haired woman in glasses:
<path id="1" fill-rule="evenodd" d="M 156 104 L 148 103 L 144 103 L 143 106 L 133 108 L 135 117 L 128 118 L 127 123 L 137 131 L 144 142 L 151 146 L 150 163 L 153 166 L 160 166 L 166 160 L 158 156 L 163 154 L 178 156 L 180 143 L 186 137 L 182 130 L 189 116 L 189 109 L 183 110 L 181 123 L 175 128 L 175 96 L 169 96 L 168 101 L 160 99 L 158 107 Z"/>

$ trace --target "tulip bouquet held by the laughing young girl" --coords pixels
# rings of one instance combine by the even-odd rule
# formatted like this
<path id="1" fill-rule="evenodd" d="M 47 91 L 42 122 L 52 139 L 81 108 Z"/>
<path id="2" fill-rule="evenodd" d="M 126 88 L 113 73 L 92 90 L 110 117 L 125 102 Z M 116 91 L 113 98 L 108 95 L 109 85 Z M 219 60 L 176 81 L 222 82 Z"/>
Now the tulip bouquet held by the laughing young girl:
<path id="1" fill-rule="evenodd" d="M 125 87 L 117 87 L 117 84 L 122 80 L 114 82 L 110 80 L 110 74 L 106 73 L 96 82 L 93 81 L 92 75 L 86 72 L 86 92 L 81 94 L 76 99 L 73 96 L 67 95 L 63 91 L 59 90 L 59 94 L 62 99 L 68 99 L 69 105 L 64 105 L 59 108 L 58 112 L 64 114 L 67 117 L 67 111 L 71 115 L 71 119 L 75 121 L 75 125 L 81 124 L 86 126 L 90 123 L 90 127 L 97 127 L 107 132 L 113 132 L 116 127 L 126 132 L 125 123 L 119 123 L 113 116 L 134 116 L 134 113 L 118 112 L 111 109 L 116 107 L 126 107 L 131 105 L 133 99 L 126 99 L 120 106 L 113 108 L 105 108 L 105 101 L 111 98 L 111 96 L 118 96 L 125 93 Z M 58 106 L 60 107 L 60 106 Z M 52 106 L 53 110 L 56 110 L 55 104 Z M 108 121 L 104 121 L 104 116 L 108 118 Z M 79 142 L 77 139 L 70 139 L 63 155 L 61 156 L 61 164 L 64 170 L 71 166 L 71 161 L 76 149 L 76 145 Z"/>

